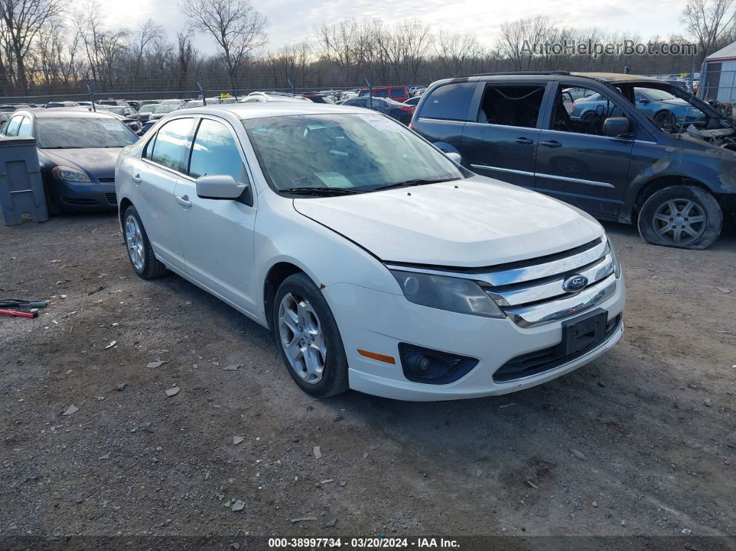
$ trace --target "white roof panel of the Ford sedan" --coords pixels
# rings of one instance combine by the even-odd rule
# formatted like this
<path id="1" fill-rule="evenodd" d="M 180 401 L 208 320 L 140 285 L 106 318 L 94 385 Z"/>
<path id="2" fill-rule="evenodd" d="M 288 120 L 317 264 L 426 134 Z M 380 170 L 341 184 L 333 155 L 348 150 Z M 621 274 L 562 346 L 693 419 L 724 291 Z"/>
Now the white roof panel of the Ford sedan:
<path id="1" fill-rule="evenodd" d="M 176 112 L 177 115 L 191 113 L 196 115 L 232 113 L 241 120 L 249 118 L 277 117 L 286 115 L 340 115 L 345 113 L 375 113 L 361 107 L 312 103 L 312 102 L 266 102 L 266 103 L 227 103 L 208 105 L 207 107 L 191 107 Z"/>

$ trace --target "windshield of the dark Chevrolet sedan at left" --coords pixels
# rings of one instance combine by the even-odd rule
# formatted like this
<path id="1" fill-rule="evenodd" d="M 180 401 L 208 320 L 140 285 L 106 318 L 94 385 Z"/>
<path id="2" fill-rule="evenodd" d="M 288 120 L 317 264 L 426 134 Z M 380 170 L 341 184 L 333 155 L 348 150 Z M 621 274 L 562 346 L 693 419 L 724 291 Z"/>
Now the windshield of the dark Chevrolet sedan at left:
<path id="1" fill-rule="evenodd" d="M 36 136 L 41 149 L 124 147 L 138 141 L 116 118 L 39 117 Z"/>

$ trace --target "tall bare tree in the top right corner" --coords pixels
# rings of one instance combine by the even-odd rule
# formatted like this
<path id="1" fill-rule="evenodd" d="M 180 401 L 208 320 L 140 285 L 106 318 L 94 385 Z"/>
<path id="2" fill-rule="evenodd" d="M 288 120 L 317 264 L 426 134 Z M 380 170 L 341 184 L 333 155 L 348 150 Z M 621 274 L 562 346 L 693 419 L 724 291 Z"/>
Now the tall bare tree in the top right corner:
<path id="1" fill-rule="evenodd" d="M 698 40 L 698 57 L 704 60 L 724 33 L 733 28 L 734 0 L 687 0 L 680 21 Z"/>

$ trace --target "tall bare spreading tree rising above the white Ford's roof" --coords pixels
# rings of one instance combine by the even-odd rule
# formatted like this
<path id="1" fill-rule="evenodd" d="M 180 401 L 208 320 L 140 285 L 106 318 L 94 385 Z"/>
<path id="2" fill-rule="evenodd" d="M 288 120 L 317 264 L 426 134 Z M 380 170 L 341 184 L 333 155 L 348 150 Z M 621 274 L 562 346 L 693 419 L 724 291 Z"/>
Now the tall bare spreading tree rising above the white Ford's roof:
<path id="1" fill-rule="evenodd" d="M 227 66 L 230 88 L 235 90 L 238 70 L 252 51 L 266 43 L 268 20 L 250 0 L 183 0 L 180 9 L 194 29 L 215 39 Z"/>

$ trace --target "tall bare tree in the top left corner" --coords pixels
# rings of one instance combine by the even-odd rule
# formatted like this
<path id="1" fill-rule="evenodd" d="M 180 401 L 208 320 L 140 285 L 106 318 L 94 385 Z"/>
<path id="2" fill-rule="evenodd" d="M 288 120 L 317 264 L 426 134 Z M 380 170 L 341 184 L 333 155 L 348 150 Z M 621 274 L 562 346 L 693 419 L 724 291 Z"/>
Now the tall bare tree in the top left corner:
<path id="1" fill-rule="evenodd" d="M 28 90 L 26 55 L 49 19 L 63 13 L 66 0 L 1 0 L 0 18 L 8 46 L 15 57 L 18 87 Z"/>

